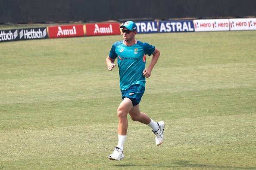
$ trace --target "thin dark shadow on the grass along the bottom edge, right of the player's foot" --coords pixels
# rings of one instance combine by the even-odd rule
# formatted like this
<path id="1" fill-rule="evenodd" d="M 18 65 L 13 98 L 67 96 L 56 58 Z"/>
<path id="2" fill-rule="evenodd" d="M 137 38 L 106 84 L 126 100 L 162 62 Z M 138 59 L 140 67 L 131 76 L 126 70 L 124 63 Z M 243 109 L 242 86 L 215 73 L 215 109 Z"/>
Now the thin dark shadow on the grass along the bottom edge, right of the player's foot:
<path id="1" fill-rule="evenodd" d="M 193 164 L 191 161 L 171 161 L 170 165 L 115 165 L 115 167 L 185 167 L 185 168 L 195 168 L 195 167 L 204 167 L 204 168 L 227 168 L 227 169 L 241 169 L 241 170 L 255 170 L 256 167 L 229 167 L 229 166 L 218 166 L 218 165 L 206 165 L 206 164 Z"/>

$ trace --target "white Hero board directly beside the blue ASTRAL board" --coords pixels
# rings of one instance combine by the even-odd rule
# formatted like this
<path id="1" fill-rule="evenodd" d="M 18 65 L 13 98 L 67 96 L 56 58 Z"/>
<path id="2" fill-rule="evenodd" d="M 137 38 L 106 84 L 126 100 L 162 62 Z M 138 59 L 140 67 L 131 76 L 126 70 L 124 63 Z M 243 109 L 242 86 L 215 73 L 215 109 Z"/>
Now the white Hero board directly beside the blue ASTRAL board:
<path id="1" fill-rule="evenodd" d="M 194 20 L 196 32 L 200 31 L 229 31 L 228 19 L 199 19 Z"/>

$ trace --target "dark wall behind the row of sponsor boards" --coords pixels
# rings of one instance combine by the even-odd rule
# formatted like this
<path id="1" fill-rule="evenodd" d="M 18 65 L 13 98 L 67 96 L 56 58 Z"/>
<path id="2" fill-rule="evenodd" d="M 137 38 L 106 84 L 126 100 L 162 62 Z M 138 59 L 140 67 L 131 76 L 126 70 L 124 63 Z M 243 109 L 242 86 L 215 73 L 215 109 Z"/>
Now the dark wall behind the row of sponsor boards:
<path id="1" fill-rule="evenodd" d="M 256 0 L 0 0 L 0 23 L 256 16 Z"/>

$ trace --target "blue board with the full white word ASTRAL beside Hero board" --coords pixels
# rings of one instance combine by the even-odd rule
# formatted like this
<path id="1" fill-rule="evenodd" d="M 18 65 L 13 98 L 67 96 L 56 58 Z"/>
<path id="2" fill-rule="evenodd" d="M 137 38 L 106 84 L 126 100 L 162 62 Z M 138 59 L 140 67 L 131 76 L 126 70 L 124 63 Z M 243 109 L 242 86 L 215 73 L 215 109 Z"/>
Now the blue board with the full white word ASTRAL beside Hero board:
<path id="1" fill-rule="evenodd" d="M 159 21 L 159 33 L 194 32 L 193 21 Z"/>

